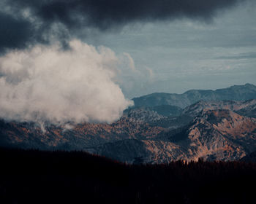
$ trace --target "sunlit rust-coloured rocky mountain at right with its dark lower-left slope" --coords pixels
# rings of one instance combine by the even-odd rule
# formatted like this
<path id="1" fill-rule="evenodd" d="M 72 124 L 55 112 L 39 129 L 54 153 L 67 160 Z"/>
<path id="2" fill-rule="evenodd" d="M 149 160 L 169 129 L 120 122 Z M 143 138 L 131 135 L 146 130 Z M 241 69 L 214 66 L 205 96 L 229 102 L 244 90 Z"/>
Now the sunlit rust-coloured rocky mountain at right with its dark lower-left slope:
<path id="1" fill-rule="evenodd" d="M 256 149 L 256 119 L 229 110 L 208 110 L 179 130 L 162 132 L 150 140 L 103 144 L 91 152 L 128 162 L 133 162 L 136 156 L 144 162 L 154 163 L 198 160 L 200 157 L 204 160 L 240 160 L 253 149 Z"/>

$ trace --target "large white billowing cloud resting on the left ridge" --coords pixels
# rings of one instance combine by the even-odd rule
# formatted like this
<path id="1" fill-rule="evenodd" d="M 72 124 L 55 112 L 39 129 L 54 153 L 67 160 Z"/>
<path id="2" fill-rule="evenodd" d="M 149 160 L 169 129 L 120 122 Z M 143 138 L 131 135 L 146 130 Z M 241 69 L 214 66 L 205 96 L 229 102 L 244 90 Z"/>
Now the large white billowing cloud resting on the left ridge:
<path id="1" fill-rule="evenodd" d="M 0 117 L 19 121 L 113 122 L 132 105 L 116 85 L 119 63 L 106 48 L 72 40 L 0 58 Z"/>

